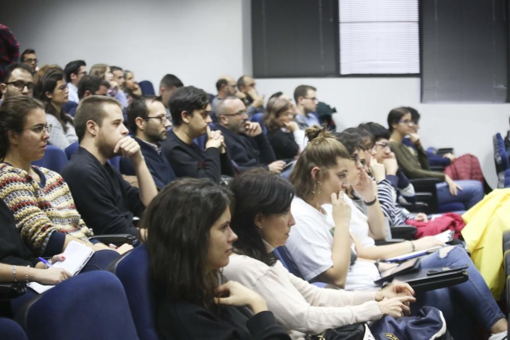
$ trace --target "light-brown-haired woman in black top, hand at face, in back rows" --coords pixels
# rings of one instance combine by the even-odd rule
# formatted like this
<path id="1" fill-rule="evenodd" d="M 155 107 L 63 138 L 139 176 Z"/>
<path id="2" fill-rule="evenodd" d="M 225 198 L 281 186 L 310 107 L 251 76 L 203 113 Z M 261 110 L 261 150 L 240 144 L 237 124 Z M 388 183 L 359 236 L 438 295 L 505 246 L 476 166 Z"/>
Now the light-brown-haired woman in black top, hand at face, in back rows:
<path id="1" fill-rule="evenodd" d="M 294 131 L 298 130 L 292 103 L 282 98 L 272 98 L 267 103 L 264 125 L 267 127 L 267 139 L 271 144 L 276 159 L 290 160 L 299 154 Z"/>

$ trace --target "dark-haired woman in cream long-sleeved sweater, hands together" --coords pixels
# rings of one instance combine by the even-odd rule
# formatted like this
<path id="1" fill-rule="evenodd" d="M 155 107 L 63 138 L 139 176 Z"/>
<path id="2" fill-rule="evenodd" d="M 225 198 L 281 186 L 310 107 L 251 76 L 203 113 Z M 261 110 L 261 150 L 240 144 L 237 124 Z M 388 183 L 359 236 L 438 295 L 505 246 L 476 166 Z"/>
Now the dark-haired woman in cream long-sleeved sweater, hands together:
<path id="1" fill-rule="evenodd" d="M 390 284 L 372 292 L 321 289 L 290 274 L 276 260 L 274 247 L 285 245 L 294 225 L 290 212 L 294 188 L 288 181 L 258 169 L 237 176 L 230 188 L 236 202 L 231 226 L 238 239 L 223 275 L 262 295 L 292 338 L 386 315 L 399 318 L 402 315 L 395 307 L 409 310 L 402 301 L 414 298 L 400 297 L 412 295 L 407 284 Z M 327 338 L 327 332 L 323 335 Z"/>

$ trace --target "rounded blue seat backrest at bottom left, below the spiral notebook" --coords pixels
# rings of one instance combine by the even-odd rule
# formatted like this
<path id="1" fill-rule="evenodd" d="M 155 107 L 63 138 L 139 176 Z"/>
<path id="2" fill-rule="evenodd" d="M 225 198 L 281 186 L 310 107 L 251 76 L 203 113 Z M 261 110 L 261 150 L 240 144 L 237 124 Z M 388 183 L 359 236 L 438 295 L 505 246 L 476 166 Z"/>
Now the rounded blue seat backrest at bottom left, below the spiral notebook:
<path id="1" fill-rule="evenodd" d="M 31 340 L 138 339 L 119 279 L 98 270 L 71 277 L 25 305 Z"/>

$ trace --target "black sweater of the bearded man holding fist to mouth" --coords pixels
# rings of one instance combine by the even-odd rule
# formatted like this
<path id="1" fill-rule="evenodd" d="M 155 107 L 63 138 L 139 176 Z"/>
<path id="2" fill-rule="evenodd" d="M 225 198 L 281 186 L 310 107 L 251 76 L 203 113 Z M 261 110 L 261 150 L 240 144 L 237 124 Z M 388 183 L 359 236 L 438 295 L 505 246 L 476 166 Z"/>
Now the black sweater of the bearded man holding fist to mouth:
<path id="1" fill-rule="evenodd" d="M 74 203 L 94 234 L 137 235 L 133 216 L 141 217 L 144 206 L 138 188 L 132 187 L 109 163 L 101 164 L 80 147 L 62 169 Z"/>

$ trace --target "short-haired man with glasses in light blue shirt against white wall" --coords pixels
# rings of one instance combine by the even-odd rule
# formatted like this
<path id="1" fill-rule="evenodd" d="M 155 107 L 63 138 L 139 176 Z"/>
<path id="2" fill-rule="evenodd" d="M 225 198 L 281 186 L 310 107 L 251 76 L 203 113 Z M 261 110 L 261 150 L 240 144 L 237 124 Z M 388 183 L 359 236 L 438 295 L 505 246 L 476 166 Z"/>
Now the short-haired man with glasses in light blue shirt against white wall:
<path id="1" fill-rule="evenodd" d="M 296 101 L 297 115 L 294 119 L 301 130 L 310 126 L 320 125 L 319 119 L 315 115 L 319 100 L 316 94 L 317 89 L 310 85 L 299 85 L 294 90 L 294 100 Z"/>

